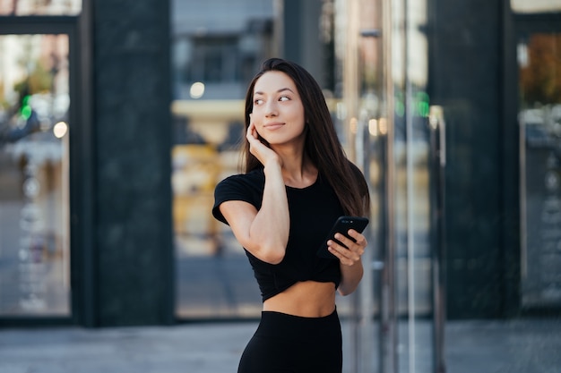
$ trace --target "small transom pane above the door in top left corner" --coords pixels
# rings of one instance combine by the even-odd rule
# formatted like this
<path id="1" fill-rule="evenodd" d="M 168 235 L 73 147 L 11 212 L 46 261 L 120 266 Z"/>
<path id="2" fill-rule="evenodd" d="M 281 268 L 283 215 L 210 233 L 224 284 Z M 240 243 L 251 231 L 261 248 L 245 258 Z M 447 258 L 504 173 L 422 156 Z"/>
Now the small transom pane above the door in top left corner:
<path id="1" fill-rule="evenodd" d="M 0 15 L 76 15 L 82 0 L 0 0 Z"/>

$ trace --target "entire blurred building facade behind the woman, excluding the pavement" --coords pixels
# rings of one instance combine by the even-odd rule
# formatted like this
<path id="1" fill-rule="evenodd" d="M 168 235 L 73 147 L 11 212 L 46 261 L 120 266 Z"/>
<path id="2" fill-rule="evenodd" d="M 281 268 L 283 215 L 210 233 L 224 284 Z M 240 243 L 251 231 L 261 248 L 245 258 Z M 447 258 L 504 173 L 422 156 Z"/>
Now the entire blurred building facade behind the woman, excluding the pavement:
<path id="1" fill-rule="evenodd" d="M 444 371 L 448 321 L 561 316 L 561 1 L 0 0 L 0 326 L 258 318 L 211 206 L 271 56 L 370 182 L 349 369 Z"/>

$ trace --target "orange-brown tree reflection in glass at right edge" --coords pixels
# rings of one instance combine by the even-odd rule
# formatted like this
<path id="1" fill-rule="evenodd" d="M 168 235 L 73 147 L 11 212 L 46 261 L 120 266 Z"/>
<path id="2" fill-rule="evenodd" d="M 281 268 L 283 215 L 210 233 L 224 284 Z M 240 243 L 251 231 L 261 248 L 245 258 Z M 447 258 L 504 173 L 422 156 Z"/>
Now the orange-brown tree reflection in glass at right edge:
<path id="1" fill-rule="evenodd" d="M 528 58 L 530 64 L 520 69 L 524 103 L 561 103 L 561 35 L 532 35 Z"/>

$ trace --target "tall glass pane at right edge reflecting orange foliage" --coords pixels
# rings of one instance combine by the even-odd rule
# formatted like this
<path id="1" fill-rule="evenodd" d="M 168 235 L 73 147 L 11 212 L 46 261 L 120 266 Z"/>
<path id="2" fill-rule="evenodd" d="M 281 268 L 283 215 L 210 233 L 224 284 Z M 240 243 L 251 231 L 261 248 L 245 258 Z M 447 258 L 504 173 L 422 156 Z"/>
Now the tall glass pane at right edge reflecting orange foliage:
<path id="1" fill-rule="evenodd" d="M 521 35 L 517 50 L 522 308 L 558 309 L 561 307 L 561 30 Z"/>

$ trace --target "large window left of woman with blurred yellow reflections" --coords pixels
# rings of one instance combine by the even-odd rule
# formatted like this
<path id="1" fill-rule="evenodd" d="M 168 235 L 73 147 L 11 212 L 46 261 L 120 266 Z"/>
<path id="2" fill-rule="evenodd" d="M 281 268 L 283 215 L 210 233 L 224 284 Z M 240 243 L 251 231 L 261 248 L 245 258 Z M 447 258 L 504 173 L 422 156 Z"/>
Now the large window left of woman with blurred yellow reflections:
<path id="1" fill-rule="evenodd" d="M 217 182 L 237 173 L 247 83 L 271 56 L 273 1 L 172 2 L 173 212 L 179 318 L 256 317 L 244 250 L 211 216 Z"/>

